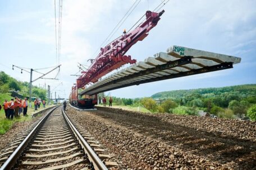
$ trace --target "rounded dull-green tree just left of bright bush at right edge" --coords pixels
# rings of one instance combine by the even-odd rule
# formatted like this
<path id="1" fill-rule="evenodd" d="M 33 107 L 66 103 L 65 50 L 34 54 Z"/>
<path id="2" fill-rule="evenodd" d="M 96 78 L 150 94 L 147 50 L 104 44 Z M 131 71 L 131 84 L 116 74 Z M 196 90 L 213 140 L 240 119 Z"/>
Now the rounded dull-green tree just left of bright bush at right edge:
<path id="1" fill-rule="evenodd" d="M 243 117 L 243 115 L 246 115 L 246 110 L 249 107 L 248 101 L 236 101 L 232 100 L 230 103 L 228 103 L 228 108 L 230 108 L 234 114 L 239 115 L 240 118 Z"/>

